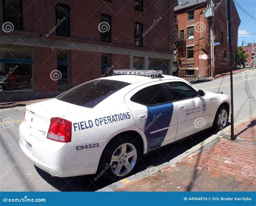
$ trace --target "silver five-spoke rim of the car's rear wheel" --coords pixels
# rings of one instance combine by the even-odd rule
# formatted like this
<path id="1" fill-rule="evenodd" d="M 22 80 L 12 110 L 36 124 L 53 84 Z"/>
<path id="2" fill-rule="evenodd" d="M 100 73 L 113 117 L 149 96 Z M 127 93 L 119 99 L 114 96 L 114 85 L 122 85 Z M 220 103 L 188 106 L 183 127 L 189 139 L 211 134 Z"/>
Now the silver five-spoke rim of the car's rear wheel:
<path id="1" fill-rule="evenodd" d="M 120 145 L 111 158 L 111 169 L 114 175 L 122 177 L 130 173 L 137 160 L 137 150 L 130 143 Z"/>

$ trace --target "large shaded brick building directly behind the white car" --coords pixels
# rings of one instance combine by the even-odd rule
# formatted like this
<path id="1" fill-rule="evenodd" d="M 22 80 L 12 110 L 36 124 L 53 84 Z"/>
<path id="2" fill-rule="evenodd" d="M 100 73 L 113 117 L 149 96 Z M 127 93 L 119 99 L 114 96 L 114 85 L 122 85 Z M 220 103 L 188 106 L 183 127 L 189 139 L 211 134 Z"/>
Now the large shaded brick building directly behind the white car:
<path id="1" fill-rule="evenodd" d="M 0 1 L 0 101 L 55 97 L 113 69 L 172 71 L 176 0 Z"/>

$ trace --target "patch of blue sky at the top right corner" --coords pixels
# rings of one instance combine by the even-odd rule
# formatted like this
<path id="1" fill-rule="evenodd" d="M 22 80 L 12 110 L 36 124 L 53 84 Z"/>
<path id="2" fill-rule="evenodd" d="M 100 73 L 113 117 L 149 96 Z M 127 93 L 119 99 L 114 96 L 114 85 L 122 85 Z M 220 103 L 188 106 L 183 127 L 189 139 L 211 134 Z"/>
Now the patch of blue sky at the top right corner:
<path id="1" fill-rule="evenodd" d="M 256 0 L 234 0 L 234 2 L 237 2 L 242 9 L 244 9 L 254 18 L 253 19 L 247 15 L 244 11 L 242 11 L 242 9 L 239 8 L 237 4 L 235 4 L 241 19 L 241 24 L 238 31 L 238 46 L 242 45 L 243 40 L 246 43 L 256 43 L 256 35 L 248 35 L 251 33 L 256 34 Z"/>

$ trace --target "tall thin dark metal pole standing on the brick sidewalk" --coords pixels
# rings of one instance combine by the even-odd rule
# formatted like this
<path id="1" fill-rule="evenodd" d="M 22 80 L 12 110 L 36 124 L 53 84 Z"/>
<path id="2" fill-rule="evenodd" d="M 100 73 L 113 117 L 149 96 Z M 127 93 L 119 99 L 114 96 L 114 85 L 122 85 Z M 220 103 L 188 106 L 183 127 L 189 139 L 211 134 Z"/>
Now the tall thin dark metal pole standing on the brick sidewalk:
<path id="1" fill-rule="evenodd" d="M 231 140 L 234 136 L 234 100 L 233 100 L 233 62 L 232 62 L 232 34 L 231 34 L 231 13 L 230 0 L 226 0 L 227 25 L 228 25 L 228 46 L 230 49 L 230 90 L 231 90 Z"/>

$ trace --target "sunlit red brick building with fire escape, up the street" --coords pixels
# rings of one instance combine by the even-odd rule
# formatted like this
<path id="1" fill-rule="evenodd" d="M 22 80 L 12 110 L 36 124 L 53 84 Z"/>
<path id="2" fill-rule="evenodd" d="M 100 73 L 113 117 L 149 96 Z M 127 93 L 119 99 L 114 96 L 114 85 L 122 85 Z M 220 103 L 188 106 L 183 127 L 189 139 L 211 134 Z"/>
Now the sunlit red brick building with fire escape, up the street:
<path id="1" fill-rule="evenodd" d="M 181 0 L 174 8 L 174 68 L 176 75 L 185 79 L 203 79 L 211 76 L 211 18 L 203 11 L 210 0 Z M 227 40 L 226 1 L 214 0 L 213 31 L 215 74 L 230 68 Z M 240 18 L 231 1 L 232 52 L 235 59 Z"/>

